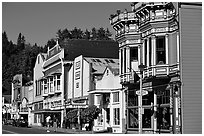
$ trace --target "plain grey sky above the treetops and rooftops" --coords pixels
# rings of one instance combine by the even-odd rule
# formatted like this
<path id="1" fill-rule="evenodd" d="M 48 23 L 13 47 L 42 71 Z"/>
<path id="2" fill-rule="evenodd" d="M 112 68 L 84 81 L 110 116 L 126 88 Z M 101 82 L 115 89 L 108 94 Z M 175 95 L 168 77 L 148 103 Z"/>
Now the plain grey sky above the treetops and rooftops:
<path id="1" fill-rule="evenodd" d="M 16 43 L 19 33 L 31 45 L 44 46 L 55 38 L 59 29 L 83 31 L 108 28 L 112 34 L 109 17 L 118 9 L 131 10 L 131 2 L 3 2 L 2 32 Z"/>

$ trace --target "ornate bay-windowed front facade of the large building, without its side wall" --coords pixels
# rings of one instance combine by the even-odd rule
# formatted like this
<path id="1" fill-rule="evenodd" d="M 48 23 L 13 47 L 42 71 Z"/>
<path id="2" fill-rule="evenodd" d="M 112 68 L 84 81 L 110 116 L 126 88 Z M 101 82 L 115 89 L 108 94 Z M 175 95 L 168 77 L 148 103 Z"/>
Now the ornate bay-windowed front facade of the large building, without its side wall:
<path id="1" fill-rule="evenodd" d="M 197 8 L 201 4 L 136 2 L 131 4 L 131 11 L 118 10 L 110 16 L 119 42 L 120 83 L 126 89 L 127 131 L 138 131 L 138 114 L 142 114 L 143 131 L 183 133 L 185 129 L 184 112 L 190 110 L 184 111 L 185 93 L 182 93 L 185 91 L 181 69 L 184 64 L 181 52 L 185 48 L 180 26 L 183 5 Z M 200 15 L 200 9 L 196 13 Z M 141 74 L 143 96 L 138 94 L 141 64 L 146 66 Z M 200 88 L 198 92 L 197 96 Z M 142 113 L 139 113 L 141 97 Z"/>

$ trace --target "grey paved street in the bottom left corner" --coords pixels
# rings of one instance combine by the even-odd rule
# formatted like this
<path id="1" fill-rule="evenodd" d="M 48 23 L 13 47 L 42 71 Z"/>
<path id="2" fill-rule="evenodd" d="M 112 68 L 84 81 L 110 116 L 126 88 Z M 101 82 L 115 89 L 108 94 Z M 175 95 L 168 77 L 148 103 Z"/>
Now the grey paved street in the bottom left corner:
<path id="1" fill-rule="evenodd" d="M 56 134 L 63 132 L 54 132 L 50 131 L 49 133 L 46 132 L 45 129 L 38 129 L 34 127 L 14 127 L 11 125 L 2 125 L 2 134 Z"/>

